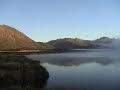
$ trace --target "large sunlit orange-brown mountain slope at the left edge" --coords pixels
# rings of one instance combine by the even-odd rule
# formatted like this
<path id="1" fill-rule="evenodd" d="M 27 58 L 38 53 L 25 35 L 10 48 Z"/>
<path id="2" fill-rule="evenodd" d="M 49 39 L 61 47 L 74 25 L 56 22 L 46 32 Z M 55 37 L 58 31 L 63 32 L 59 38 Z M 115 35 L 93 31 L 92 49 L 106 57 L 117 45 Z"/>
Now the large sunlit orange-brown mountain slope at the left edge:
<path id="1" fill-rule="evenodd" d="M 38 46 L 25 34 L 17 29 L 0 25 L 0 51 L 1 50 L 36 50 Z"/>

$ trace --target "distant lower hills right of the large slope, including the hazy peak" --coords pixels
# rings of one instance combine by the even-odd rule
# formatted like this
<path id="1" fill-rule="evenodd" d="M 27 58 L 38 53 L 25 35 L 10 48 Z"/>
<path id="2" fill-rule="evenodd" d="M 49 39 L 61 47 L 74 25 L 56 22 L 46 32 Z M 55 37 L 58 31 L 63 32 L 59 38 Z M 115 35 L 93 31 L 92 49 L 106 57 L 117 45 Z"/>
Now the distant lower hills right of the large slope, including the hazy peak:
<path id="1" fill-rule="evenodd" d="M 96 40 L 82 40 L 79 38 L 63 38 L 49 41 L 48 44 L 57 49 L 80 49 L 80 48 L 103 48 L 104 44 L 109 44 L 113 39 L 101 37 Z"/>

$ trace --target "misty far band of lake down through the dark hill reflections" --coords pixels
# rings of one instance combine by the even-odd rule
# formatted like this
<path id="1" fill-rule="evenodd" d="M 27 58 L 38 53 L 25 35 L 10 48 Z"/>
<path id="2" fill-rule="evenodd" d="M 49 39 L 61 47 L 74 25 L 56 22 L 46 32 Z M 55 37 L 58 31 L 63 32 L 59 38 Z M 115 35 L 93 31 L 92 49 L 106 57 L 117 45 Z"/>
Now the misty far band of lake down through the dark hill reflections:
<path id="1" fill-rule="evenodd" d="M 119 51 L 111 49 L 82 49 L 55 54 L 35 54 L 29 55 L 28 58 L 39 60 L 41 63 L 48 63 L 58 66 L 79 66 L 87 63 L 109 65 L 119 63 L 120 60 Z"/>

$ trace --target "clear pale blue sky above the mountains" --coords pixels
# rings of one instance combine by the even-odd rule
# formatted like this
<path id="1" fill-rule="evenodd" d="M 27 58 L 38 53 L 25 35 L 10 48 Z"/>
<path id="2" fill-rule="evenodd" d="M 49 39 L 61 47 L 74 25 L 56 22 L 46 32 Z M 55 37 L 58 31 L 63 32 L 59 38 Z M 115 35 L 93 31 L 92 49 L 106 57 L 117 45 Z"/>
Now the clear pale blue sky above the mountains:
<path id="1" fill-rule="evenodd" d="M 0 0 L 0 24 L 35 41 L 120 36 L 120 0 Z"/>

